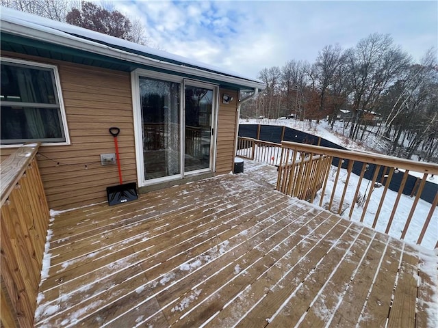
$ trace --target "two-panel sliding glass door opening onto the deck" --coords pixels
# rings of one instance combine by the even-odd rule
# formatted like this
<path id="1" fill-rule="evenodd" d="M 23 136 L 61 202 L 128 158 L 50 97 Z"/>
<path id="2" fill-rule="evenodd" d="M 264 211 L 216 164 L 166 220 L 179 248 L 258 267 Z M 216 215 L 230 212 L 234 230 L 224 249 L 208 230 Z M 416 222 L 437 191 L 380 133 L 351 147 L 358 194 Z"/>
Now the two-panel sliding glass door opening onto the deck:
<path id="1" fill-rule="evenodd" d="M 133 74 L 139 185 L 214 169 L 216 87 L 163 74 Z"/>

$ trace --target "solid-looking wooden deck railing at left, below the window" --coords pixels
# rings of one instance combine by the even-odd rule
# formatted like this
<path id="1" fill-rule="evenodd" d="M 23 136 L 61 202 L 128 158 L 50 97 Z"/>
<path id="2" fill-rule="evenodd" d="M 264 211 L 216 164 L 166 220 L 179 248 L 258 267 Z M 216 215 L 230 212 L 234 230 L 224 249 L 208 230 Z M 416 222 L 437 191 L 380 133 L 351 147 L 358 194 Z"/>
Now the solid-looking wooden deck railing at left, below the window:
<path id="1" fill-rule="evenodd" d="M 49 208 L 36 163 L 39 144 L 0 165 L 1 326 L 33 327 Z"/>

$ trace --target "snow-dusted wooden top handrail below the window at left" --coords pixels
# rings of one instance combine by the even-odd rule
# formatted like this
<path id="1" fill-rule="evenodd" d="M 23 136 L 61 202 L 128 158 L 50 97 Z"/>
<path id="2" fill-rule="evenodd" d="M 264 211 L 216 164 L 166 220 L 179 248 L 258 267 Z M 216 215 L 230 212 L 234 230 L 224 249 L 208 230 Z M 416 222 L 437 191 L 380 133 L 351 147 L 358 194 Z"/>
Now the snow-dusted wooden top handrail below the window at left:
<path id="1" fill-rule="evenodd" d="M 29 143 L 21 146 L 14 154 L 0 164 L 0 206 L 8 199 L 12 189 L 34 159 L 40 143 Z"/>

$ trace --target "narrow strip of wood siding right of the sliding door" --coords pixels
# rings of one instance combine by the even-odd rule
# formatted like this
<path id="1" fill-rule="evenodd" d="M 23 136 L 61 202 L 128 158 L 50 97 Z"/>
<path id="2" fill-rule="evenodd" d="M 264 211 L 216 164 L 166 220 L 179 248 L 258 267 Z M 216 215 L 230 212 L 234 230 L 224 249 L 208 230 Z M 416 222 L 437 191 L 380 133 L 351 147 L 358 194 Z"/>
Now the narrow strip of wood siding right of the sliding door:
<path id="1" fill-rule="evenodd" d="M 233 97 L 229 104 L 222 102 L 223 94 Z M 218 141 L 216 143 L 216 174 L 233 170 L 235 128 L 237 120 L 237 91 L 221 89 L 219 92 Z"/>

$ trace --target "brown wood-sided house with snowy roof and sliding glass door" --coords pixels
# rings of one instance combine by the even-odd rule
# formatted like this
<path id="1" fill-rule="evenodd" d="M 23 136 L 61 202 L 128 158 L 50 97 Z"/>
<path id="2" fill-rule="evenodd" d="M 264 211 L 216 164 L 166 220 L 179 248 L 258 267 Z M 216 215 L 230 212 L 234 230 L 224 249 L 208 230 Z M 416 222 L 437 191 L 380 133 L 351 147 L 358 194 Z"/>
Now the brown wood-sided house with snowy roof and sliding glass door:
<path id="1" fill-rule="evenodd" d="M 233 169 L 240 92 L 261 81 L 101 33 L 1 8 L 1 157 L 41 141 L 51 208 L 105 201 Z"/>

